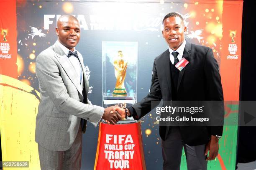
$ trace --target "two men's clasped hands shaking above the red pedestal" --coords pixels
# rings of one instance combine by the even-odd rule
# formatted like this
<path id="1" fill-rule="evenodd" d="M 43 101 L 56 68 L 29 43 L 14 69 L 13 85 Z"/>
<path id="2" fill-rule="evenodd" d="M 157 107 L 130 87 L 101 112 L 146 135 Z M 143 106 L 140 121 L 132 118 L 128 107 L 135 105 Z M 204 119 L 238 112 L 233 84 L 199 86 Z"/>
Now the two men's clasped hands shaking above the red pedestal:
<path id="1" fill-rule="evenodd" d="M 130 114 L 128 109 L 127 111 L 125 112 L 125 109 L 118 106 L 107 107 L 104 110 L 102 119 L 110 124 L 116 124 L 116 122 L 125 119 Z"/>

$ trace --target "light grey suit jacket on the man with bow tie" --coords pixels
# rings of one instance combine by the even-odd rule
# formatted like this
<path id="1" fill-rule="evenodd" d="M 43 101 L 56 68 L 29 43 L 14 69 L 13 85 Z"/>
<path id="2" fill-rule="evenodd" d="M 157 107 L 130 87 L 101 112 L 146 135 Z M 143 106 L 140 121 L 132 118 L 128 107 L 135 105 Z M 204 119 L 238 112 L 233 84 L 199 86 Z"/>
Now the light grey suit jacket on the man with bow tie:
<path id="1" fill-rule="evenodd" d="M 84 74 L 83 96 L 78 76 L 58 43 L 42 51 L 36 58 L 36 76 L 41 101 L 36 116 L 36 142 L 47 150 L 68 150 L 77 136 L 81 118 L 94 126 L 102 118 L 104 108 L 92 105 L 87 97 L 89 83 L 82 55 L 78 52 Z"/>

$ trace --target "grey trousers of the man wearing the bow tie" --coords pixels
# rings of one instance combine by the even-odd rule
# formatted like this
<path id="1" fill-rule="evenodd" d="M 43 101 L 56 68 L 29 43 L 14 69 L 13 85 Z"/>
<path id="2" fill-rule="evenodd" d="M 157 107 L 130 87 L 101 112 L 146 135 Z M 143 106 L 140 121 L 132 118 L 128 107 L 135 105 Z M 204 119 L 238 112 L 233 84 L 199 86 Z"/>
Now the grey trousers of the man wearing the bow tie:
<path id="1" fill-rule="evenodd" d="M 82 129 L 79 127 L 73 145 L 66 151 L 46 150 L 38 144 L 41 170 L 80 170 L 82 157 Z"/>

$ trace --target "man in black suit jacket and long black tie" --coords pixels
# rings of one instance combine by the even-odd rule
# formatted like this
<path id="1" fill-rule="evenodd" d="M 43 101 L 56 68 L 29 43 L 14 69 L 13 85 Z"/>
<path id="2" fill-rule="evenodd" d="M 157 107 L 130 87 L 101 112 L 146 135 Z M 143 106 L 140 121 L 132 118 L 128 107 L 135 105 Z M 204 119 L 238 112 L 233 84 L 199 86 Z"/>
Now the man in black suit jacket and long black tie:
<path id="1" fill-rule="evenodd" d="M 116 108 L 122 115 L 138 120 L 151 111 L 151 101 L 161 99 L 223 102 L 218 63 L 212 50 L 185 41 L 187 28 L 178 13 L 167 14 L 163 26 L 162 34 L 169 49 L 155 58 L 150 92 L 132 107 Z M 186 58 L 189 64 L 179 71 L 175 65 L 182 58 Z M 214 114 L 223 122 L 223 106 L 219 111 Z M 223 126 L 160 126 L 159 131 L 164 170 L 179 170 L 183 147 L 188 170 L 206 170 L 207 160 L 214 160 L 218 155 L 218 140 Z"/>

